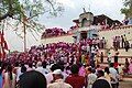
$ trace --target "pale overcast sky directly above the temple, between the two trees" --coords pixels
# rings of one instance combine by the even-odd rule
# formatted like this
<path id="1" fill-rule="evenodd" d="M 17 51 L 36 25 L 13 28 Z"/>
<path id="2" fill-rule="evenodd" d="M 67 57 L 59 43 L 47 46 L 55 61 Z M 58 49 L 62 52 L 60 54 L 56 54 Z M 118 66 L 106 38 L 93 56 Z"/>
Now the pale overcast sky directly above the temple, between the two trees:
<path id="1" fill-rule="evenodd" d="M 74 23 L 74 19 L 78 19 L 79 14 L 82 13 L 82 8 L 86 11 L 90 11 L 95 14 L 106 14 L 114 20 L 123 20 L 123 15 L 120 9 L 123 7 L 122 0 L 57 0 L 62 2 L 65 7 L 65 12 L 63 15 L 57 18 L 47 19 L 43 15 L 41 23 L 45 24 L 47 28 L 61 26 L 68 30 Z"/>

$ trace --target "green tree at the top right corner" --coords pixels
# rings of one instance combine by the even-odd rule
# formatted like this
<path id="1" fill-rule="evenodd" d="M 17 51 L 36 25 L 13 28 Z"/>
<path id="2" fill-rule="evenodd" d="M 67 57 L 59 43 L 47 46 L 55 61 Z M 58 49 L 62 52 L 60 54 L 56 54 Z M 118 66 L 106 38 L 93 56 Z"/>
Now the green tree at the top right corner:
<path id="1" fill-rule="evenodd" d="M 125 19 L 132 18 L 132 0 L 124 0 L 124 8 L 121 9 L 121 13 L 125 15 Z"/>

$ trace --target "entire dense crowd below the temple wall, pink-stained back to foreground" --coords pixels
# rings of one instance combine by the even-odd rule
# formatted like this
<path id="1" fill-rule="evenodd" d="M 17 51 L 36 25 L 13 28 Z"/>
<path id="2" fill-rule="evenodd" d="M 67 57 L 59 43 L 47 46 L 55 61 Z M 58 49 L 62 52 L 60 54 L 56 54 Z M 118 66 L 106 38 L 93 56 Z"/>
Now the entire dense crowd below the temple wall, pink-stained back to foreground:
<path id="1" fill-rule="evenodd" d="M 118 88 L 123 73 L 121 65 L 117 61 L 108 67 L 99 65 L 103 63 L 103 53 L 98 50 L 105 44 L 94 38 L 14 52 L 0 63 L 0 88 Z M 127 67 L 131 73 L 132 62 Z M 106 84 L 98 86 L 100 82 Z"/>

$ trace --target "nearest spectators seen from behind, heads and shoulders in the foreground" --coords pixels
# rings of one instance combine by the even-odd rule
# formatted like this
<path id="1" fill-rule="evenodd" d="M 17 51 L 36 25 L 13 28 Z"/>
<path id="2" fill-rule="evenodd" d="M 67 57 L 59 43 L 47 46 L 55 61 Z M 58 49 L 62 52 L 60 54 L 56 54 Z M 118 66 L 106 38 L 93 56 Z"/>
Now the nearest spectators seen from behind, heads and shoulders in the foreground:
<path id="1" fill-rule="evenodd" d="M 50 67 L 48 67 L 50 66 Z M 65 65 L 62 62 L 47 65 L 37 62 L 36 65 L 4 63 L 0 73 L 1 88 L 118 88 L 118 72 L 110 67 L 105 70 L 98 65 Z M 102 82 L 106 82 L 102 85 Z M 101 84 L 100 86 L 98 86 Z"/>

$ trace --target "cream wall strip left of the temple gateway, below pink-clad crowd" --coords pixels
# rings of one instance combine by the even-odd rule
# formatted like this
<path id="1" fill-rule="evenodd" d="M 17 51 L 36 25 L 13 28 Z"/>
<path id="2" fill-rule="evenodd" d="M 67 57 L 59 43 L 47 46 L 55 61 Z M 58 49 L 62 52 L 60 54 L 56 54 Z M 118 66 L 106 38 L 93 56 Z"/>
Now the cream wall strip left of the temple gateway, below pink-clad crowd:
<path id="1" fill-rule="evenodd" d="M 62 35 L 62 36 L 54 36 L 54 37 L 47 37 L 43 38 L 41 41 L 42 44 L 48 44 L 48 43 L 58 43 L 58 42 L 66 42 L 66 43 L 74 43 L 73 34 L 69 35 Z"/>

